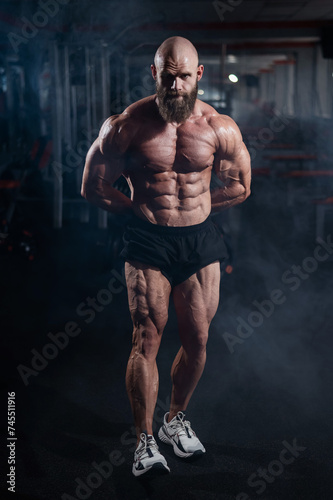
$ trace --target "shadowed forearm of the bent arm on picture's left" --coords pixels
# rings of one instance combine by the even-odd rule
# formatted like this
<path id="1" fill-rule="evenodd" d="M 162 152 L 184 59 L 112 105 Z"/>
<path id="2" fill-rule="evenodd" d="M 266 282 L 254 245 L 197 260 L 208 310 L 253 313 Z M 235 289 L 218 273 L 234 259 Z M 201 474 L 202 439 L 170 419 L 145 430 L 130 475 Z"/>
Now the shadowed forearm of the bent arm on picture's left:
<path id="1" fill-rule="evenodd" d="M 103 183 L 100 188 L 86 189 L 82 195 L 94 205 L 114 214 L 131 215 L 132 201 L 114 187 Z"/>

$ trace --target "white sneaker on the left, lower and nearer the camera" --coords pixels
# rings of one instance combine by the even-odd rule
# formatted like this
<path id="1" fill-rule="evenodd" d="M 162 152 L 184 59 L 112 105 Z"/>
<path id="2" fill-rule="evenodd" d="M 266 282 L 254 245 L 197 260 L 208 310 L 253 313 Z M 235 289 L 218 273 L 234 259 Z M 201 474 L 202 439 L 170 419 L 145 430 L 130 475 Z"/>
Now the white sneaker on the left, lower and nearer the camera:
<path id="1" fill-rule="evenodd" d="M 134 452 L 132 472 L 134 476 L 141 476 L 147 472 L 149 476 L 170 472 L 165 458 L 158 451 L 154 437 L 146 432 L 140 434 L 140 443 Z"/>

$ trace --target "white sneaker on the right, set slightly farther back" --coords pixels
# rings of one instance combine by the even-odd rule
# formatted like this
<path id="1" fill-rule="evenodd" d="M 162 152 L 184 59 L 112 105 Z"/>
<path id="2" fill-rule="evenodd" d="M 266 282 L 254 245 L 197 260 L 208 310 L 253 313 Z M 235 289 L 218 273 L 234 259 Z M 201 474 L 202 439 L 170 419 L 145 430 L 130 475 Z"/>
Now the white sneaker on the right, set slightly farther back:
<path id="1" fill-rule="evenodd" d="M 178 457 L 188 458 L 193 455 L 203 455 L 206 450 L 197 438 L 191 424 L 185 420 L 185 414 L 179 411 L 168 423 L 169 413 L 164 415 L 163 425 L 158 431 L 158 437 L 163 443 L 171 444 Z"/>

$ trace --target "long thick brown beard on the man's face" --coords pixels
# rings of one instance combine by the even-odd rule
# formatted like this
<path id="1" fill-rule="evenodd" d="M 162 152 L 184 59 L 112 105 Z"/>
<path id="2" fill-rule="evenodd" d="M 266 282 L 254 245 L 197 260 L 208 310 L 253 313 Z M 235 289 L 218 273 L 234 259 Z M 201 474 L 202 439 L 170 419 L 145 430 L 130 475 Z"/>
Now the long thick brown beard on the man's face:
<path id="1" fill-rule="evenodd" d="M 198 95 L 198 82 L 189 93 L 165 90 L 156 82 L 158 110 L 166 122 L 185 122 L 192 114 Z M 181 95 L 179 98 L 177 96 Z"/>

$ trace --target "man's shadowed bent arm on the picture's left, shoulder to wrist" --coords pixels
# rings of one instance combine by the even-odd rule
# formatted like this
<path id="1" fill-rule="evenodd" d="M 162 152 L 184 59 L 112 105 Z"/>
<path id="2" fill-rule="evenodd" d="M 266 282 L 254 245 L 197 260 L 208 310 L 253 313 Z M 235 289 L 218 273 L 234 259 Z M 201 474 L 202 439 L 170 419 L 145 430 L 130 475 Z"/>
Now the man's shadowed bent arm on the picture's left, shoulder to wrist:
<path id="1" fill-rule="evenodd" d="M 124 153 L 117 144 L 117 117 L 103 124 L 86 157 L 81 195 L 94 205 L 115 214 L 132 214 L 132 201 L 113 187 L 125 168 Z"/>

